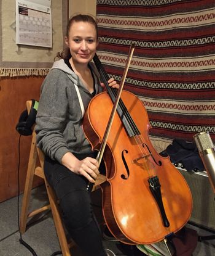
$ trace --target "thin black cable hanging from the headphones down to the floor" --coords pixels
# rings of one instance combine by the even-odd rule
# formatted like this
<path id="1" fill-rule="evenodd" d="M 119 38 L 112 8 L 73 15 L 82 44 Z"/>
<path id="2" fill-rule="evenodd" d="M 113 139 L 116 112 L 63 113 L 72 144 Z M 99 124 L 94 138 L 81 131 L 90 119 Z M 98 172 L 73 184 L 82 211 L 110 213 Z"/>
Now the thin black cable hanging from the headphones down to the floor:
<path id="1" fill-rule="evenodd" d="M 37 256 L 36 252 L 34 252 L 34 249 L 29 246 L 29 244 L 27 244 L 23 239 L 22 239 L 22 233 L 20 231 L 20 139 L 21 139 L 21 134 L 20 137 L 18 139 L 18 197 L 17 197 L 17 218 L 18 218 L 18 232 L 20 233 L 20 244 L 22 244 L 23 246 L 25 246 L 30 252 L 31 254 L 33 254 L 34 256 Z"/>

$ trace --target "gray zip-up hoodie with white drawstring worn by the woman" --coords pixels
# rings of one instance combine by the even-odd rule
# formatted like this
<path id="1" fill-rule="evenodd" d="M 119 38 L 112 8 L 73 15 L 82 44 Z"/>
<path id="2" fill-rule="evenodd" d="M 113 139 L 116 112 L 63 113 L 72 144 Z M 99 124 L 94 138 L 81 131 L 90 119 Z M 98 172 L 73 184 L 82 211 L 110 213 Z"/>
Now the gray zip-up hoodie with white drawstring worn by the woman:
<path id="1" fill-rule="evenodd" d="M 99 73 L 92 62 L 89 65 L 98 94 L 102 91 Z M 72 72 L 63 59 L 54 62 L 42 83 L 36 117 L 37 146 L 45 155 L 61 163 L 66 152 L 92 152 L 82 129 L 80 107 L 82 101 L 86 110 L 92 98 L 92 94 L 84 88 L 79 76 Z"/>

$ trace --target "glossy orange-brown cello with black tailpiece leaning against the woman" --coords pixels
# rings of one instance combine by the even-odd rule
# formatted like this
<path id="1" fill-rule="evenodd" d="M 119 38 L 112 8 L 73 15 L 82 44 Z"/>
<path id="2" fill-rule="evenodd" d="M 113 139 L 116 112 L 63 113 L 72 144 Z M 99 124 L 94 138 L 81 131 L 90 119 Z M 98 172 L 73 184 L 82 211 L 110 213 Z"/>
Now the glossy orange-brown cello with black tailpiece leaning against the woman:
<path id="1" fill-rule="evenodd" d="M 163 241 L 190 218 L 189 186 L 169 157 L 160 156 L 152 146 L 143 102 L 122 90 L 115 106 L 117 90 L 109 88 L 98 56 L 93 61 L 107 89 L 93 97 L 84 115 L 82 126 L 93 151 L 101 152 L 117 107 L 102 154 L 107 178 L 100 185 L 104 220 L 113 236 L 125 244 Z"/>

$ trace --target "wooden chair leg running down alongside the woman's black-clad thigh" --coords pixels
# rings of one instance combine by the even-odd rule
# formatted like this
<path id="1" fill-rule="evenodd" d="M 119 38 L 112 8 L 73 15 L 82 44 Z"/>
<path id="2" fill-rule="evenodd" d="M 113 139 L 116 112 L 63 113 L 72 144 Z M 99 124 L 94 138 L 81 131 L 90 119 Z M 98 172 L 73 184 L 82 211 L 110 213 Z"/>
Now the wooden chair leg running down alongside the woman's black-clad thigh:
<path id="1" fill-rule="evenodd" d="M 45 186 L 47 189 L 47 194 L 48 194 L 50 206 L 52 209 L 53 221 L 55 223 L 55 228 L 56 228 L 58 239 L 60 242 L 62 254 L 63 256 L 71 256 L 69 252 L 68 241 L 65 235 L 65 229 L 63 227 L 60 212 L 58 209 L 57 197 L 55 196 L 55 192 L 53 192 L 53 189 L 49 186 L 49 183 L 47 182 L 47 180 L 45 178 L 44 180 L 45 180 Z"/>

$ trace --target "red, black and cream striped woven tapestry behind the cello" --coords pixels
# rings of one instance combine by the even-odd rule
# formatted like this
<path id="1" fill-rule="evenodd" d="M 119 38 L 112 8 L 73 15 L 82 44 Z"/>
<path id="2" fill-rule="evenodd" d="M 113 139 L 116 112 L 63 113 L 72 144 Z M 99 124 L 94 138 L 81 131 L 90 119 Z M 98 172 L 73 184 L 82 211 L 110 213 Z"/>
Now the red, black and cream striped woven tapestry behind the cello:
<path id="1" fill-rule="evenodd" d="M 135 52 L 125 88 L 143 101 L 158 152 L 174 138 L 215 139 L 215 1 L 97 0 L 98 56 L 120 81 Z"/>

